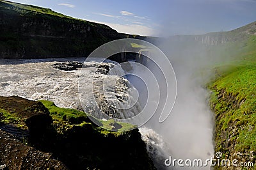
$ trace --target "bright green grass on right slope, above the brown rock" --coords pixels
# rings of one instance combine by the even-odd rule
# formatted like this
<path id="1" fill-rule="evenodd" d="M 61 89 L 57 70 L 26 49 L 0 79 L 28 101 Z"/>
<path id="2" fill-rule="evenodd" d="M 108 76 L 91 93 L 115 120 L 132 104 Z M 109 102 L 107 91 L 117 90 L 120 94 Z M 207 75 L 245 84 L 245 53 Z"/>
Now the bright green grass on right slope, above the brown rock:
<path id="1" fill-rule="evenodd" d="M 214 82 L 211 88 L 215 90 L 216 95 L 224 90 L 227 96 L 237 101 L 237 104 L 232 105 L 230 103 L 233 101 L 211 99 L 215 105 L 215 113 L 223 114 L 220 122 L 216 122 L 220 123 L 221 130 L 227 130 L 230 123 L 236 124 L 240 132 L 237 134 L 239 140 L 235 149 L 256 150 L 255 128 L 248 130 L 250 126 L 256 125 L 256 65 L 243 66 L 236 72 L 229 73 Z"/>

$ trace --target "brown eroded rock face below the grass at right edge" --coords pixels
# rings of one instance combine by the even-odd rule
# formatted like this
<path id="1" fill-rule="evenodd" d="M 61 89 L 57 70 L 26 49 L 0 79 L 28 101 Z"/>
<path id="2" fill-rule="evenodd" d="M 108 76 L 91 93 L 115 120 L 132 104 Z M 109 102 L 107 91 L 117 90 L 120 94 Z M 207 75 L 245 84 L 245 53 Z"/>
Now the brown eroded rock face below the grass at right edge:
<path id="1" fill-rule="evenodd" d="M 246 129 L 246 127 L 249 127 L 248 130 L 253 130 L 254 126 L 246 123 L 246 121 L 241 121 L 239 119 L 233 121 L 230 119 L 230 121 L 227 122 L 227 128 L 223 130 L 223 123 L 225 122 L 225 119 L 230 118 L 232 115 L 228 115 L 227 113 L 230 111 L 233 111 L 232 114 L 234 114 L 234 111 L 237 109 L 240 109 L 241 106 L 246 101 L 246 98 L 243 98 L 242 100 L 237 99 L 237 95 L 227 93 L 225 89 L 214 89 L 218 93 L 216 97 L 218 98 L 218 102 L 212 102 L 211 107 L 212 111 L 215 112 L 215 119 L 216 119 L 216 125 L 215 125 L 215 150 L 216 152 L 219 151 L 223 155 L 225 155 L 225 158 L 229 158 L 230 160 L 237 160 L 238 162 L 246 162 L 248 167 L 255 164 L 255 157 L 254 157 L 254 151 L 250 148 L 250 145 L 248 147 L 241 148 L 240 150 L 237 150 L 237 144 L 239 143 L 239 134 L 243 133 L 243 130 Z M 248 112 L 247 114 L 253 114 L 253 112 Z M 244 144 L 245 146 L 245 144 Z M 236 167 L 235 169 L 237 169 Z M 229 167 L 216 167 L 216 169 L 230 169 Z M 250 168 L 249 168 L 250 169 Z"/>

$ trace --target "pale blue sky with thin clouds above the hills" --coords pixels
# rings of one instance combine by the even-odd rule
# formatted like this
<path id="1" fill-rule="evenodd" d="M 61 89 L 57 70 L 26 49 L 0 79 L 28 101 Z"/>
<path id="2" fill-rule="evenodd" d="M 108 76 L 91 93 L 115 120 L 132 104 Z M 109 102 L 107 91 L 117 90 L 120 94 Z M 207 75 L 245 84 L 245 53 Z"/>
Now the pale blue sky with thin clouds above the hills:
<path id="1" fill-rule="evenodd" d="M 100 22 L 118 32 L 198 35 L 229 31 L 256 21 L 256 0 L 13 0 L 79 19 Z"/>

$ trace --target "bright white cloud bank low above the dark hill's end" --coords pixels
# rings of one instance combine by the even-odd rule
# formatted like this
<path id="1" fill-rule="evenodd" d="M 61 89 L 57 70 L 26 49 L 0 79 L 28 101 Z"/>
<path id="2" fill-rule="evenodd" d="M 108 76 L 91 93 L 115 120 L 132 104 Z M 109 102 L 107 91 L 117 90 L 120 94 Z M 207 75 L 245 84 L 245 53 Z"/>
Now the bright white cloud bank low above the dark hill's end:
<path id="1" fill-rule="evenodd" d="M 131 35 L 144 35 L 144 36 L 156 36 L 156 30 L 151 27 L 141 26 L 138 24 L 113 24 L 109 22 L 99 22 L 97 20 L 88 20 L 91 22 L 97 22 L 100 24 L 105 24 L 115 29 L 119 33 L 127 33 Z"/>

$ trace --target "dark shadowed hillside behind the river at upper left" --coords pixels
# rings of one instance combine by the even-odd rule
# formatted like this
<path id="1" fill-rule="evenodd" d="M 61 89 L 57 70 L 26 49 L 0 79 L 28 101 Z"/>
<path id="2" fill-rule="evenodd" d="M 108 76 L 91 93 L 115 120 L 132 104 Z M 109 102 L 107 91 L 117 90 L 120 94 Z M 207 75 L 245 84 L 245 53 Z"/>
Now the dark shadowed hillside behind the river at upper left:
<path id="1" fill-rule="evenodd" d="M 3 0 L 0 32 L 0 58 L 16 59 L 86 57 L 106 42 L 136 36 L 51 9 Z"/>

